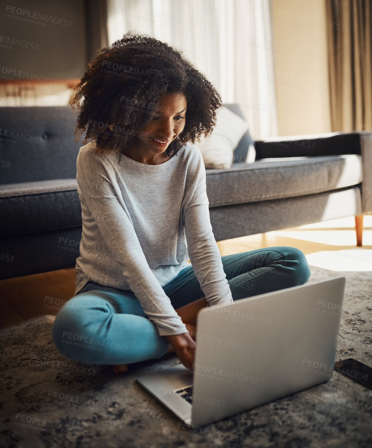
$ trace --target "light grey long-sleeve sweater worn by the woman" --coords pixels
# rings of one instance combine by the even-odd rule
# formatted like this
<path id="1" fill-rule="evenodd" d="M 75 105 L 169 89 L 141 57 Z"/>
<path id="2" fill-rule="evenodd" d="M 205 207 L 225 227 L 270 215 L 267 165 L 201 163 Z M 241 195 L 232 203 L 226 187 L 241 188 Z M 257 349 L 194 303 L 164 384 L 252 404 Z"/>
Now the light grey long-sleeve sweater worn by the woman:
<path id="1" fill-rule="evenodd" d="M 186 333 L 162 286 L 190 258 L 208 303 L 231 303 L 199 148 L 186 143 L 158 165 L 94 150 L 94 142 L 82 146 L 76 161 L 83 233 L 74 295 L 89 280 L 130 289 L 160 336 Z"/>

